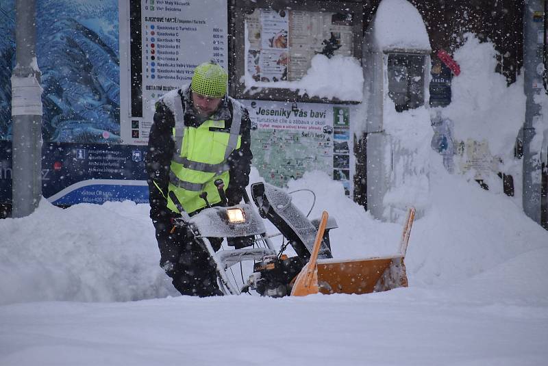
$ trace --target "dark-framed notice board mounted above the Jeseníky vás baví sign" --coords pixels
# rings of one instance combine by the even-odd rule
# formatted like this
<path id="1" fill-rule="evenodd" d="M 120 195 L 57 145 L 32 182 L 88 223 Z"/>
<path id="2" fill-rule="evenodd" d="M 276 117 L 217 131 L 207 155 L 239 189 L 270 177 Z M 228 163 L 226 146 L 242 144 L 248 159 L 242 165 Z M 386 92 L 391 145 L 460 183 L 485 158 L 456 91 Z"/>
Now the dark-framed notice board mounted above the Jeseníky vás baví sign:
<path id="1" fill-rule="evenodd" d="M 234 0 L 231 95 L 239 99 L 345 103 L 283 86 L 306 75 L 314 55 L 362 55 L 359 1 Z M 279 3 L 279 4 L 277 4 Z M 241 57 L 245 55 L 245 57 Z M 276 85 L 278 83 L 278 85 Z"/>

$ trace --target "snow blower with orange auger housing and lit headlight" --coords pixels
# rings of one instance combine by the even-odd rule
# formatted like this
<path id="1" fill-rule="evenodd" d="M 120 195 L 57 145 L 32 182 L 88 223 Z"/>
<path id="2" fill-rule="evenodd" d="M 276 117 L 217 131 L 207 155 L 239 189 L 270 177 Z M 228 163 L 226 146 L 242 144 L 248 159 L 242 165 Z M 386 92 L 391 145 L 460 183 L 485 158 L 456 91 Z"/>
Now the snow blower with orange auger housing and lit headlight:
<path id="1" fill-rule="evenodd" d="M 223 202 L 222 181 L 217 186 Z M 170 192 L 172 193 L 172 192 Z M 340 261 L 333 258 L 329 231 L 337 228 L 336 220 L 324 212 L 321 220 L 308 220 L 291 202 L 287 192 L 268 183 L 251 185 L 251 204 L 247 194 L 244 204 L 233 207 L 211 207 L 189 217 L 175 195 L 170 195 L 182 218 L 176 225 L 189 226 L 195 237 L 201 238 L 219 274 L 219 287 L 225 294 L 254 290 L 261 296 L 304 296 L 310 293 L 370 293 L 407 286 L 403 259 L 414 218 L 408 210 L 399 253 L 388 257 L 373 257 Z M 263 219 L 279 233 L 267 235 Z M 282 235 L 281 248 L 271 237 Z M 210 238 L 225 238 L 234 249 L 215 252 Z M 284 253 L 291 246 L 295 256 Z M 253 261 L 253 272 L 243 278 L 242 263 Z M 240 264 L 242 280 L 238 283 L 232 267 Z M 251 271 L 251 270 L 250 270 Z"/>

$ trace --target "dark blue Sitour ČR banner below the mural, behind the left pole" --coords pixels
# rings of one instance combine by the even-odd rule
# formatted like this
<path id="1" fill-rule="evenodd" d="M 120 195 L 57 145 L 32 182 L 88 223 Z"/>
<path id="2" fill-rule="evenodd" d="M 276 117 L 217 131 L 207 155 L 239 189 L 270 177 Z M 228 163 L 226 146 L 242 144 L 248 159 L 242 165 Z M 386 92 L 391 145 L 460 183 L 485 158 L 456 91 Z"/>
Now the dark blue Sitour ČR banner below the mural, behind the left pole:
<path id="1" fill-rule="evenodd" d="M 12 200 L 11 142 L 0 142 L 0 203 Z M 42 195 L 55 205 L 149 200 L 147 146 L 68 144 L 42 146 Z"/>

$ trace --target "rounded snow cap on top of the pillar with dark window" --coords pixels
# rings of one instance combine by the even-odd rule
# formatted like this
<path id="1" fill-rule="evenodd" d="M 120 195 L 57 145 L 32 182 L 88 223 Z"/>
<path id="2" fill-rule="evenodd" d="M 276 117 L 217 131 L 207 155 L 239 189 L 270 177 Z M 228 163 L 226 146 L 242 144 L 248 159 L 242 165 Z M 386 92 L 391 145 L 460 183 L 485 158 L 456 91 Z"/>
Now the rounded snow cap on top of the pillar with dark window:
<path id="1" fill-rule="evenodd" d="M 381 1 L 369 34 L 369 42 L 377 50 L 431 50 L 423 18 L 406 0 Z"/>

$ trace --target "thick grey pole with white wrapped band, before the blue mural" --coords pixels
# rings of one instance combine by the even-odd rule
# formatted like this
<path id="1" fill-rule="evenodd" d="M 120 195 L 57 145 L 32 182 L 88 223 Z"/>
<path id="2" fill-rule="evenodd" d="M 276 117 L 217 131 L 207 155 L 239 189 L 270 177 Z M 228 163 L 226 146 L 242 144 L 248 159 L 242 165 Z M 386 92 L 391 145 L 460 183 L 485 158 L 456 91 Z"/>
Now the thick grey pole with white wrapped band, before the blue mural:
<path id="1" fill-rule="evenodd" d="M 12 72 L 13 216 L 31 214 L 42 195 L 42 88 L 36 61 L 35 0 L 16 0 Z"/>

